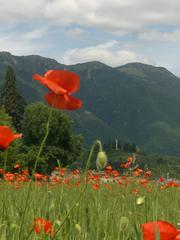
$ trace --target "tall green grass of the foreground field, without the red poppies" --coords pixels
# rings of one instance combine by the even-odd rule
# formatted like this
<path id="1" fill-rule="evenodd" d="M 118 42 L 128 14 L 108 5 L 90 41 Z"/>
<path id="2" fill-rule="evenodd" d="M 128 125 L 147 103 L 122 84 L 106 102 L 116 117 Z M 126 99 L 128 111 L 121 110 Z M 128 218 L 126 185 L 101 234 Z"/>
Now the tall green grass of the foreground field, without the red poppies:
<path id="1" fill-rule="evenodd" d="M 178 228 L 180 222 L 180 188 L 159 189 L 149 183 L 151 192 L 135 179 L 130 183 L 100 184 L 98 190 L 89 183 L 81 200 L 69 213 L 83 189 L 83 184 L 38 185 L 32 184 L 28 208 L 23 223 L 21 240 L 63 239 L 63 240 L 139 240 L 140 224 L 152 220 L 164 220 Z M 2 182 L 0 185 L 0 239 L 18 240 L 23 209 L 29 183 L 17 184 Z M 138 188 L 139 194 L 132 190 Z M 136 204 L 138 196 L 145 197 L 145 203 Z M 34 219 L 42 217 L 53 223 L 55 231 L 61 226 L 56 237 L 37 235 Z M 77 225 L 80 229 L 77 229 Z"/>

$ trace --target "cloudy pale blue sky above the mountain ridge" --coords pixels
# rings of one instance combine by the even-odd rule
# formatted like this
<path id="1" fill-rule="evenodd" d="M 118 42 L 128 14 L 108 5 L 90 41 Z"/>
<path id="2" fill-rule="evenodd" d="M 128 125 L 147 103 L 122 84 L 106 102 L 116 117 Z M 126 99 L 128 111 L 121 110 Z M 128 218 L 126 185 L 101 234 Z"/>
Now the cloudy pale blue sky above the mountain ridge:
<path id="1" fill-rule="evenodd" d="M 0 0 L 0 51 L 180 76 L 180 0 Z"/>

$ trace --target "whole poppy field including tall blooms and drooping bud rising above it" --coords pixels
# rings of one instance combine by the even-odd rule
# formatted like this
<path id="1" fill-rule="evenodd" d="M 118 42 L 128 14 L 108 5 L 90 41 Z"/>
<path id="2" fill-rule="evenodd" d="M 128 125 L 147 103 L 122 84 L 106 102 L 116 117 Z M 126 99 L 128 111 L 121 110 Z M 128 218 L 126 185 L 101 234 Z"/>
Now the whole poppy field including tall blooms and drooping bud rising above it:
<path id="1" fill-rule="evenodd" d="M 45 95 L 54 108 L 76 110 L 81 100 L 71 96 L 79 77 L 66 70 L 50 70 L 33 78 L 49 89 Z M 141 169 L 133 157 L 119 169 L 108 165 L 99 140 L 95 141 L 85 169 L 55 167 L 51 175 L 36 171 L 49 133 L 39 146 L 33 169 L 14 165 L 6 171 L 8 147 L 22 134 L 0 126 L 0 148 L 5 152 L 0 169 L 0 239 L 68 240 L 178 240 L 180 239 L 180 184 L 160 177 L 150 180 L 151 170 Z M 89 170 L 95 147 L 97 170 Z"/>

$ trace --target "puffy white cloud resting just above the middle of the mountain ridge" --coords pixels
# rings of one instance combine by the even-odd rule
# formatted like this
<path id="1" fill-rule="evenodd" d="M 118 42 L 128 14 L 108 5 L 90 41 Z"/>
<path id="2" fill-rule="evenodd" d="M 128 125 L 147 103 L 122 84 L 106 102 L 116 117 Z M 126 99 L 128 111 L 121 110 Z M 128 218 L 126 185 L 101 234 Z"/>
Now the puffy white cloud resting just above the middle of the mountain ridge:
<path id="1" fill-rule="evenodd" d="M 67 51 L 60 60 L 65 64 L 75 64 L 88 61 L 101 61 L 110 66 L 120 66 L 129 62 L 150 64 L 152 61 L 132 51 L 121 50 L 117 41 L 109 41 L 96 46 L 75 48 Z"/>

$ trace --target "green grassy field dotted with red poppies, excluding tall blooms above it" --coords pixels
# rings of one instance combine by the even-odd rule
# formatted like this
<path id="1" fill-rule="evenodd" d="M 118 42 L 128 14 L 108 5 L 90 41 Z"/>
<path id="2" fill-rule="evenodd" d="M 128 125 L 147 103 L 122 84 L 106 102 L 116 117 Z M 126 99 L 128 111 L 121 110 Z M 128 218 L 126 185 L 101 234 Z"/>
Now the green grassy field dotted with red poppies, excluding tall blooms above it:
<path id="1" fill-rule="evenodd" d="M 1 239 L 179 239 L 178 183 L 110 166 L 86 175 L 56 168 L 56 176 L 35 173 L 31 181 L 15 167 L 0 185 Z M 161 238 L 153 237 L 156 227 Z"/>

